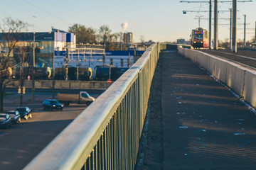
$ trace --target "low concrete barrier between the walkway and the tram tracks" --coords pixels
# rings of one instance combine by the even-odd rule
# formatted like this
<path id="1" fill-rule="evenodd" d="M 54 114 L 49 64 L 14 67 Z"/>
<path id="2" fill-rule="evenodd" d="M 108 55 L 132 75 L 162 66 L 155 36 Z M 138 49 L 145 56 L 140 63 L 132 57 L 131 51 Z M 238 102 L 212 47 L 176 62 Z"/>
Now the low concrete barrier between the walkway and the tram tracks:
<path id="1" fill-rule="evenodd" d="M 256 70 L 205 52 L 178 47 L 178 53 L 208 70 L 216 79 L 230 87 L 253 107 L 256 107 Z"/>

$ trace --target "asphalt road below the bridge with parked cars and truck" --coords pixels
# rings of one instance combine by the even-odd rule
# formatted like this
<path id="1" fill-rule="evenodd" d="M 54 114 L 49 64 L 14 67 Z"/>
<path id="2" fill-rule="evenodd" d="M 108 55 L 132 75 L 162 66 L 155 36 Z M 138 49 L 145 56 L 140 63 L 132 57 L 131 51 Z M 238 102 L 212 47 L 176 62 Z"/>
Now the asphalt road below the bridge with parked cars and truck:
<path id="1" fill-rule="evenodd" d="M 97 98 L 99 95 L 92 96 Z M 6 96 L 4 110 L 14 110 L 19 105 L 18 96 L 16 93 Z M 33 109 L 31 119 L 21 120 L 9 129 L 0 129 L 0 169 L 23 169 L 87 107 L 70 104 L 63 111 L 44 111 L 41 101 L 50 98 L 51 93 L 40 92 L 35 96 L 35 103 L 30 102 L 31 94 L 23 96 L 23 106 Z"/>

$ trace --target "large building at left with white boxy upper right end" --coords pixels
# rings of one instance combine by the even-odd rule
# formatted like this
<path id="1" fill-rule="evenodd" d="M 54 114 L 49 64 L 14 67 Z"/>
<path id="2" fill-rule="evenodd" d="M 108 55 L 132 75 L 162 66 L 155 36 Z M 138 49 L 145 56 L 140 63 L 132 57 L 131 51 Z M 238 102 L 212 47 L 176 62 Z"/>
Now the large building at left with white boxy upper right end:
<path id="1" fill-rule="evenodd" d="M 0 33 L 0 56 L 8 53 L 7 34 Z M 35 40 L 35 67 L 53 67 L 53 57 L 56 51 L 63 51 L 67 47 L 75 47 L 75 35 L 61 30 L 52 32 L 19 33 L 16 47 L 10 54 L 11 65 L 23 62 L 25 67 L 33 64 L 33 43 Z"/>

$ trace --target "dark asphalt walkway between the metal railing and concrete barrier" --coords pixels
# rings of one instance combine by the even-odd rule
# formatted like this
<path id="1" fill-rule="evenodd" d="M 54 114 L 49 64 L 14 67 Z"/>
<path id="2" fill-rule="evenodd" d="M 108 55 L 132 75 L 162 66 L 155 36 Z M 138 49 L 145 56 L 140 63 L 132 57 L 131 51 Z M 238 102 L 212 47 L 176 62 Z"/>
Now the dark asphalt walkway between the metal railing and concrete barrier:
<path id="1" fill-rule="evenodd" d="M 144 169 L 255 169 L 255 114 L 177 52 L 160 60 Z"/>

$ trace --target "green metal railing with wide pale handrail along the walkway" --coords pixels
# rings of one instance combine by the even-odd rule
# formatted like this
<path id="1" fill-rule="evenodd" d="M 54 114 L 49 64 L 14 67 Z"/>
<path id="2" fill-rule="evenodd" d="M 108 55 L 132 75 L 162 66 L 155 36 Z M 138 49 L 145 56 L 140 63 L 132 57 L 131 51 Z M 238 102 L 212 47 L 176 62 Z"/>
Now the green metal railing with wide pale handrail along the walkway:
<path id="1" fill-rule="evenodd" d="M 134 169 L 160 50 L 144 55 L 25 169 Z"/>

